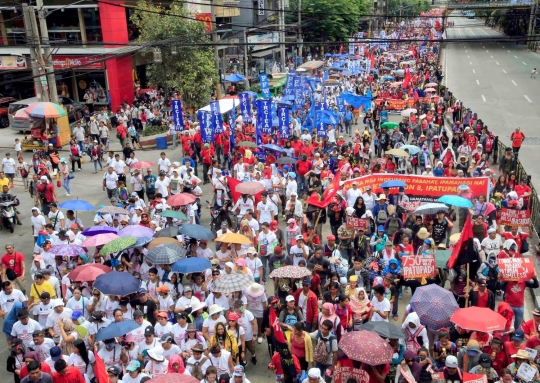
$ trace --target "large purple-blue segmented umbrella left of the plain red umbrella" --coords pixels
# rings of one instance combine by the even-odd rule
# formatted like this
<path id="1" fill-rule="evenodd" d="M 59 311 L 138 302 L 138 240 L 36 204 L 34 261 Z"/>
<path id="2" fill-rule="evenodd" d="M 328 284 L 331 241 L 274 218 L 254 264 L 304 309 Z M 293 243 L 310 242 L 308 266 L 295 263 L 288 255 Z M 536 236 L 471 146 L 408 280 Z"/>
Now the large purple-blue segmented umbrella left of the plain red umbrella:
<path id="1" fill-rule="evenodd" d="M 450 318 L 459 309 L 454 295 L 435 284 L 417 288 L 410 304 L 420 322 L 431 330 L 451 326 Z"/>

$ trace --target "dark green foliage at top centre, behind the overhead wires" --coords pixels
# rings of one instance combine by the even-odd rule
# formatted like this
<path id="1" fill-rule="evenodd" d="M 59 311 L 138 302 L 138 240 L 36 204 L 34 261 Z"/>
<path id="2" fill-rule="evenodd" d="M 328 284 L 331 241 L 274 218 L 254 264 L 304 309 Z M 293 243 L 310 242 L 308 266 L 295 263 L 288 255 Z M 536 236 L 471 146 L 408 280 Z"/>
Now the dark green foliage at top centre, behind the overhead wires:
<path id="1" fill-rule="evenodd" d="M 367 0 L 303 0 L 302 33 L 305 41 L 345 41 L 358 32 L 358 19 L 369 14 Z M 285 22 L 298 21 L 298 0 L 291 0 Z M 324 16 L 322 16 L 324 15 Z"/>

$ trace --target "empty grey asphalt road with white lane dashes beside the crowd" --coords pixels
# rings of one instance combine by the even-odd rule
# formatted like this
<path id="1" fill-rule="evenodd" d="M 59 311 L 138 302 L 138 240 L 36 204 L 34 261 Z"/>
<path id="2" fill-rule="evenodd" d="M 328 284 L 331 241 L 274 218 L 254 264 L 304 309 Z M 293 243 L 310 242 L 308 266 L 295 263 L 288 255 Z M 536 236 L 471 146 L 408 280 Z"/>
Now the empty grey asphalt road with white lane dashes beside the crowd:
<path id="1" fill-rule="evenodd" d="M 461 15 L 454 11 L 452 16 Z M 448 38 L 486 38 L 502 36 L 484 26 L 483 20 L 452 17 L 455 26 L 447 29 Z M 540 133 L 540 77 L 531 79 L 533 68 L 540 68 L 540 54 L 530 52 L 525 45 L 505 43 L 447 43 L 444 62 L 446 84 L 467 108 L 478 113 L 491 131 L 505 145 L 510 134 L 521 128 L 526 140 L 519 158 L 532 183 L 540 190 L 538 160 Z"/>

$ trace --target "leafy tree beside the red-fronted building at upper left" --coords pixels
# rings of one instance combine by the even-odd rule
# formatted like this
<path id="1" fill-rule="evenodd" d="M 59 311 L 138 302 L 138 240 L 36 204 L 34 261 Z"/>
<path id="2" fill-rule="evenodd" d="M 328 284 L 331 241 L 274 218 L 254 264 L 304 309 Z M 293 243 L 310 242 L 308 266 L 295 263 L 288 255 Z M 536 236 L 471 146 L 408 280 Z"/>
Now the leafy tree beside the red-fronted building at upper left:
<path id="1" fill-rule="evenodd" d="M 177 1 L 166 10 L 141 0 L 131 21 L 139 29 L 138 41 L 149 45 L 142 53 L 150 56 L 147 66 L 150 82 L 166 89 L 176 87 L 186 107 L 199 109 L 205 106 L 219 81 L 214 50 L 211 46 L 196 45 L 211 42 L 205 34 L 205 24 L 196 21 L 195 16 Z M 160 63 L 154 62 L 151 56 L 156 45 L 161 51 Z"/>

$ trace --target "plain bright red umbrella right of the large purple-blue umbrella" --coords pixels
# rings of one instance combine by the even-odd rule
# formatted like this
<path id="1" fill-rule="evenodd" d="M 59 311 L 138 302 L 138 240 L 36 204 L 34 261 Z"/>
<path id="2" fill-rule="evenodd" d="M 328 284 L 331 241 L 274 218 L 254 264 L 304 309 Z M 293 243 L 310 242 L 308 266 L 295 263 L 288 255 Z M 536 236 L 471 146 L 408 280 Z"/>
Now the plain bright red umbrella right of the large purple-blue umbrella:
<path id="1" fill-rule="evenodd" d="M 465 330 L 482 332 L 504 330 L 506 318 L 485 307 L 467 307 L 454 311 L 450 321 Z"/>

